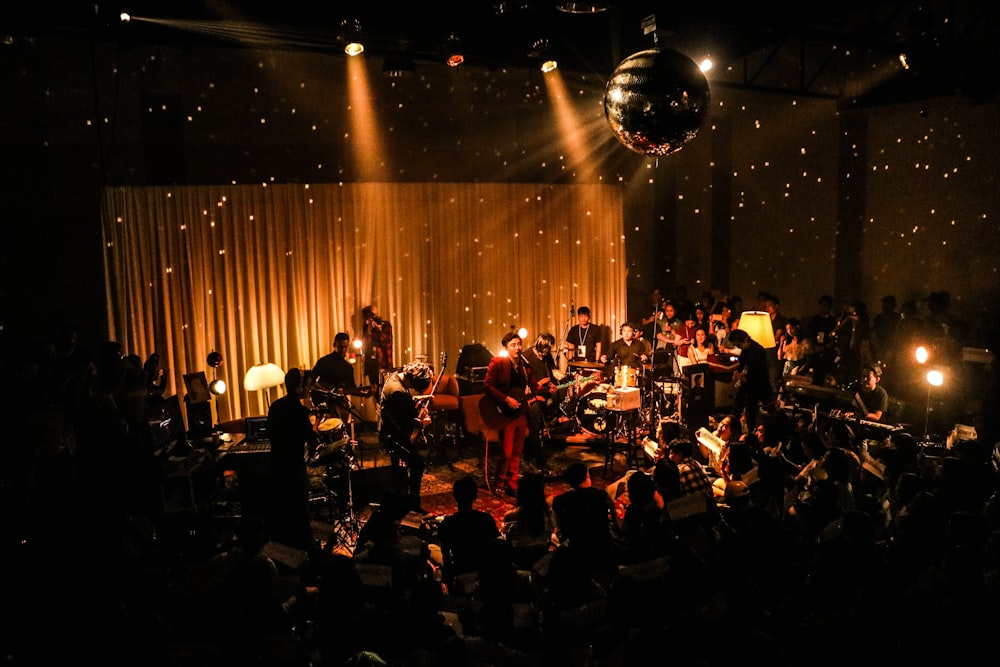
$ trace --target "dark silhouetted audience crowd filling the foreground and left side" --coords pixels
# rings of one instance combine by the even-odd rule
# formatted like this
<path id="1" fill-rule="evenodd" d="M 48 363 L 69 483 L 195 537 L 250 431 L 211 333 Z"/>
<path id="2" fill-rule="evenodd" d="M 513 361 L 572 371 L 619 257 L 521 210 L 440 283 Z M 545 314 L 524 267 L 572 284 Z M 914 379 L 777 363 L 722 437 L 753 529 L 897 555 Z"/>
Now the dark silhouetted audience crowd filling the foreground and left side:
<path id="1" fill-rule="evenodd" d="M 826 301 L 801 320 L 821 342 L 802 372 L 829 363 L 817 334 L 834 328 L 812 328 L 828 326 Z M 892 335 L 912 335 L 918 319 L 904 303 Z M 889 338 L 881 320 L 873 329 L 878 344 Z M 525 476 L 501 519 L 475 507 L 474 477 L 457 480 L 458 509 L 421 538 L 450 554 L 441 581 L 427 550 L 401 539 L 407 506 L 391 493 L 353 556 L 317 549 L 293 567 L 268 548 L 266 524 L 237 522 L 227 543 L 208 513 L 195 523 L 163 513 L 165 453 L 152 453 L 136 418 L 143 401 L 162 400 L 163 372 L 74 333 L 3 367 L 11 620 L 0 648 L 10 664 L 596 666 L 663 660 L 664 642 L 677 647 L 671 660 L 698 664 L 725 647 L 775 664 L 904 664 L 992 648 L 991 440 L 931 447 L 897 433 L 876 443 L 811 419 L 765 418 L 762 434 L 724 439 L 735 472 L 721 494 L 706 490 L 705 463 L 682 434 L 676 453 L 632 472 L 621 519 L 607 480 L 582 462 L 566 466 L 568 490 L 557 486 L 551 507 L 544 480 Z M 685 491 L 706 499 L 711 520 L 679 516 Z M 713 548 L 702 548 L 708 539 Z M 480 560 L 483 544 L 497 548 Z M 660 555 L 670 557 L 664 569 L 643 569 Z M 361 576 L 366 567 L 388 568 L 391 580 Z M 442 586 L 470 568 L 486 573 L 473 596 Z"/>

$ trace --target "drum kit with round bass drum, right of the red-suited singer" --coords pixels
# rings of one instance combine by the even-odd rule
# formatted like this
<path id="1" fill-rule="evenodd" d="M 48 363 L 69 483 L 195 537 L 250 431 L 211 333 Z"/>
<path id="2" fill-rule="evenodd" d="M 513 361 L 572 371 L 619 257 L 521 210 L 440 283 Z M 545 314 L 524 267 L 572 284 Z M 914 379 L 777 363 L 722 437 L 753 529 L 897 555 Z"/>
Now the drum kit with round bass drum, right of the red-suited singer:
<path id="1" fill-rule="evenodd" d="M 580 385 L 578 391 L 571 390 L 560 405 L 563 414 L 574 419 L 580 430 L 591 436 L 607 437 L 626 422 L 636 421 L 629 414 L 631 410 L 609 406 L 609 394 L 621 390 L 639 390 L 640 403 L 634 416 L 639 426 L 643 430 L 648 429 L 650 434 L 655 433 L 661 419 L 680 418 L 682 383 L 670 368 L 646 364 L 642 367 L 618 365 L 608 370 L 603 364 L 571 361 L 569 372 L 576 369 L 584 372 L 600 370 L 600 380 L 605 376 L 610 380 Z"/>

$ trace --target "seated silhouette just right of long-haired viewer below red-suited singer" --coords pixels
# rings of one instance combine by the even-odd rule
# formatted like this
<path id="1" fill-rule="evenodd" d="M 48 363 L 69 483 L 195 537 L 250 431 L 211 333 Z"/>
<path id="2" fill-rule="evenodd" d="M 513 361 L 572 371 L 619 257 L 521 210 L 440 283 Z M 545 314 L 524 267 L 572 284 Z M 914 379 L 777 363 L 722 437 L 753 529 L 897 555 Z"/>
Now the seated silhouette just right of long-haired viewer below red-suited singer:
<path id="1" fill-rule="evenodd" d="M 599 568 L 611 565 L 620 528 L 611 496 L 593 486 L 585 463 L 570 463 L 563 478 L 572 488 L 552 499 L 560 545 Z"/>

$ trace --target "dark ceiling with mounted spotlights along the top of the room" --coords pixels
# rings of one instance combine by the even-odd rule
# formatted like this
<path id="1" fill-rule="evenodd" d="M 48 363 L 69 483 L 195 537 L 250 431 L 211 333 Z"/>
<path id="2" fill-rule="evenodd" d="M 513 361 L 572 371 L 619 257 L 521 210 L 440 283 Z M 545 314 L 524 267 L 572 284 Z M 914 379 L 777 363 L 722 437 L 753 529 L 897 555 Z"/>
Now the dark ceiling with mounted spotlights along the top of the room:
<path id="1" fill-rule="evenodd" d="M 444 66 L 446 39 L 470 67 L 534 66 L 547 40 L 564 72 L 606 78 L 653 46 L 720 64 L 713 84 L 889 104 L 960 93 L 975 102 L 1000 90 L 1000 4 L 945 2 L 612 2 L 574 13 L 555 0 L 422 0 L 273 3 L 133 0 L 99 4 L 8 0 L 5 41 L 32 36 L 306 49 L 340 53 L 341 26 L 357 19 L 369 57 Z M 352 7 L 353 5 L 353 7 Z M 135 19 L 121 24 L 118 14 Z M 650 21 L 655 30 L 650 29 Z M 903 70 L 898 55 L 912 67 Z M 405 68 L 404 68 L 405 69 Z"/>

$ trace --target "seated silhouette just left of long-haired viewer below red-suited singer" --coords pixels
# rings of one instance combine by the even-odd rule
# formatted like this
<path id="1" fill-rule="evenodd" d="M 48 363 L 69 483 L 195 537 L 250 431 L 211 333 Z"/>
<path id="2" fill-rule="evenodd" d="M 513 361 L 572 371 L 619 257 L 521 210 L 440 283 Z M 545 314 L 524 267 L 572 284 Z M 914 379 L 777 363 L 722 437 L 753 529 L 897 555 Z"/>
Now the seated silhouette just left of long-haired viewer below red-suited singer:
<path id="1" fill-rule="evenodd" d="M 437 532 L 445 583 L 449 585 L 460 574 L 478 572 L 486 555 L 501 546 L 500 529 L 493 515 L 474 507 L 479 495 L 475 478 L 465 475 L 455 480 L 452 495 L 458 509 L 441 521 Z"/>

